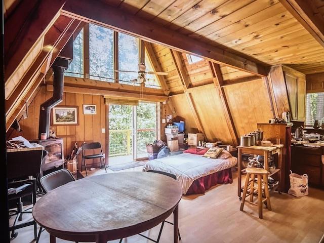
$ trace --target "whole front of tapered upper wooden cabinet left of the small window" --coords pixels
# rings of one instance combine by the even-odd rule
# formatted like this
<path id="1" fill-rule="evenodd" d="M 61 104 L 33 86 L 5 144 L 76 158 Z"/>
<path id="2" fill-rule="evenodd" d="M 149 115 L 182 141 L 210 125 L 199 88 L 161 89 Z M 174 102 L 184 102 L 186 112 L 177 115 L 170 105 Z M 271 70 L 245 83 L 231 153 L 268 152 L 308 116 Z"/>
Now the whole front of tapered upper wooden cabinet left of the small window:
<path id="1" fill-rule="evenodd" d="M 303 73 L 282 66 L 292 120 L 305 120 L 306 77 Z"/>

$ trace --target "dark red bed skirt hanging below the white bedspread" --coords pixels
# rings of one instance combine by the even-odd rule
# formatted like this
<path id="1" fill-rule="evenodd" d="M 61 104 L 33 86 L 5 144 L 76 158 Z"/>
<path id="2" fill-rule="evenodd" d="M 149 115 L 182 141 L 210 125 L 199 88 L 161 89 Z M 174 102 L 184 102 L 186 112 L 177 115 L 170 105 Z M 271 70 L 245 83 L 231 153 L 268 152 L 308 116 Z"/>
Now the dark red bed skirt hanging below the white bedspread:
<path id="1" fill-rule="evenodd" d="M 212 186 L 232 182 L 232 171 L 231 168 L 229 168 L 194 180 L 191 186 L 189 187 L 189 190 L 187 191 L 186 195 L 203 194 Z"/>

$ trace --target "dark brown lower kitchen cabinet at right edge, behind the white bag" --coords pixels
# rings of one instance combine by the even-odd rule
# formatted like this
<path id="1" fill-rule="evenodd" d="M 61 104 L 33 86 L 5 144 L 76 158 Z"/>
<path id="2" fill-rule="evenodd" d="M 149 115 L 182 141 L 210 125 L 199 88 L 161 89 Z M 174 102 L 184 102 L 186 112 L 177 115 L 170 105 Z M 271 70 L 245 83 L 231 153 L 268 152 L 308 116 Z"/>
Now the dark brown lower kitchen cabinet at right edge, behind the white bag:
<path id="1" fill-rule="evenodd" d="M 307 174 L 309 185 L 324 187 L 322 154 L 322 147 L 293 146 L 292 171 L 299 175 Z"/>

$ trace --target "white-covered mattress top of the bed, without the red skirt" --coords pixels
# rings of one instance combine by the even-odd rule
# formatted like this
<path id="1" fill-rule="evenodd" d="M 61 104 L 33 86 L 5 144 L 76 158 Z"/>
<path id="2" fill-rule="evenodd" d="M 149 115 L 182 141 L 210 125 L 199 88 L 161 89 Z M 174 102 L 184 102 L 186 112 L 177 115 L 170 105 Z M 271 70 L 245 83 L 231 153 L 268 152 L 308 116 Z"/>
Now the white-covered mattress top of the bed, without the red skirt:
<path id="1" fill-rule="evenodd" d="M 145 164 L 143 171 L 164 171 L 176 175 L 177 181 L 182 186 L 183 194 L 186 194 L 194 180 L 229 169 L 236 163 L 237 158 L 233 156 L 227 159 L 215 159 L 183 153 L 150 160 Z"/>

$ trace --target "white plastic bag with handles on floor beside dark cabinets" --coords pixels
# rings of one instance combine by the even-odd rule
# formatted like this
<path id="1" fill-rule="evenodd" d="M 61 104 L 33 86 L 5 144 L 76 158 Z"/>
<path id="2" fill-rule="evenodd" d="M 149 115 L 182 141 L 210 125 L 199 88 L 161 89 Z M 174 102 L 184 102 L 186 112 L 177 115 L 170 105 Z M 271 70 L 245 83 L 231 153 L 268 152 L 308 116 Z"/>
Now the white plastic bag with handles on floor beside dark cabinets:
<path id="1" fill-rule="evenodd" d="M 293 196 L 305 196 L 308 195 L 308 176 L 298 175 L 290 171 L 290 188 L 288 193 Z"/>

